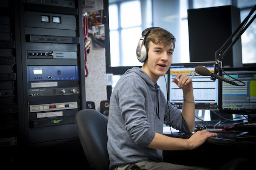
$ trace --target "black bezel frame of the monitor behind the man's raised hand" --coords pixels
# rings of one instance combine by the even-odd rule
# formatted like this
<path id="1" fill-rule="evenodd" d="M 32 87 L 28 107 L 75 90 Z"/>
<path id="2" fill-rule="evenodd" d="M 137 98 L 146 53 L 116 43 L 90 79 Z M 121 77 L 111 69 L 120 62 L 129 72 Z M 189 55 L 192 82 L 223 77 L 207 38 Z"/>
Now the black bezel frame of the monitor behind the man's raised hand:
<path id="1" fill-rule="evenodd" d="M 172 63 L 172 65 L 215 65 L 216 61 L 207 61 L 207 62 L 180 62 L 180 63 Z M 219 65 L 222 67 L 222 62 L 219 61 L 218 62 Z M 172 66 L 171 65 L 171 66 Z M 171 68 L 170 66 L 170 68 Z M 170 68 L 168 70 L 168 94 L 167 94 L 167 99 L 168 101 L 170 102 Z M 221 73 L 221 70 L 219 69 L 219 72 L 218 72 L 218 75 Z M 220 91 L 219 91 L 219 88 L 220 88 L 220 82 L 221 81 L 218 81 L 218 107 L 216 108 L 201 108 L 201 107 L 198 107 L 198 105 L 195 105 L 195 110 L 210 110 L 210 111 L 219 111 L 220 110 Z M 181 109 L 181 108 L 179 108 Z"/>

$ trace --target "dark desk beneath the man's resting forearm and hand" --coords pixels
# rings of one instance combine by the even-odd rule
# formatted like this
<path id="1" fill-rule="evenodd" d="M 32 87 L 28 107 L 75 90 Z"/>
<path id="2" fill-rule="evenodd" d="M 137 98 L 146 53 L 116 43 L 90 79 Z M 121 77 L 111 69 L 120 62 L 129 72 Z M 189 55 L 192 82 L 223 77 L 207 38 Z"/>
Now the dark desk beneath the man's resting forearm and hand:
<path id="1" fill-rule="evenodd" d="M 195 150 L 163 151 L 163 161 L 173 164 L 207 167 L 218 169 L 227 165 L 242 166 L 250 169 L 255 165 L 256 141 L 235 140 L 234 136 L 241 131 L 217 132 L 218 137 L 212 137 Z M 187 138 L 182 133 L 165 134 L 166 136 Z M 246 168 L 248 167 L 248 168 Z M 254 166 L 253 166 L 254 167 Z"/>

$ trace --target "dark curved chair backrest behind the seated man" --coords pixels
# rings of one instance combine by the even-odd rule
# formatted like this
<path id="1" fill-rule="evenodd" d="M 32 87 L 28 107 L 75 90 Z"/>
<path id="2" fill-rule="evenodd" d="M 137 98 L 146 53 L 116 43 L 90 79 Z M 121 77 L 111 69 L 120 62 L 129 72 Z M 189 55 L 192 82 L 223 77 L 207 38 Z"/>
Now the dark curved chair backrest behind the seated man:
<path id="1" fill-rule="evenodd" d="M 108 118 L 93 109 L 76 114 L 76 127 L 84 154 L 92 170 L 108 170 Z"/>

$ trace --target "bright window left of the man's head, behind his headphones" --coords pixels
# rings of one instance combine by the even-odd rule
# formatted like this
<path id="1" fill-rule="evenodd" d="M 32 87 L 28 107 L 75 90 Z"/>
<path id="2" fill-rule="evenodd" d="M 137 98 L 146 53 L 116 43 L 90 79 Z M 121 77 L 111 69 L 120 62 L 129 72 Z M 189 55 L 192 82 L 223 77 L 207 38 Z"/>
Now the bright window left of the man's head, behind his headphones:
<path id="1" fill-rule="evenodd" d="M 142 31 L 152 26 L 151 0 L 109 0 L 108 10 L 111 67 L 141 66 L 136 48 Z"/>

